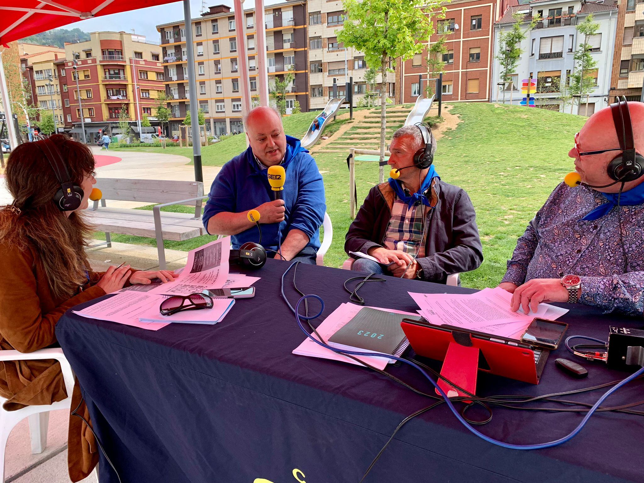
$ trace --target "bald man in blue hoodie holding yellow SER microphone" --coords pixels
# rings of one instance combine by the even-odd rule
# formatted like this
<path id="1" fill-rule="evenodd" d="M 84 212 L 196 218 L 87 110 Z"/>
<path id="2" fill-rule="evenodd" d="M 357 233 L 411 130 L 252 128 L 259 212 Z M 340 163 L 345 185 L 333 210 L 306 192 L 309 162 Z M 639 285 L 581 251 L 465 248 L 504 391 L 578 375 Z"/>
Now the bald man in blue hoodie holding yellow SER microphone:
<path id="1" fill-rule="evenodd" d="M 315 265 L 320 247 L 319 227 L 327 209 L 324 184 L 315 160 L 284 134 L 279 114 L 266 106 L 251 109 L 244 126 L 250 147 L 223 165 L 214 179 L 204 209 L 209 234 L 232 235 L 232 247 L 258 242 L 256 225 L 247 214 L 260 212 L 261 244 L 269 256 Z M 283 200 L 273 200 L 267 170 L 286 171 Z M 281 256 L 276 254 L 280 251 Z"/>

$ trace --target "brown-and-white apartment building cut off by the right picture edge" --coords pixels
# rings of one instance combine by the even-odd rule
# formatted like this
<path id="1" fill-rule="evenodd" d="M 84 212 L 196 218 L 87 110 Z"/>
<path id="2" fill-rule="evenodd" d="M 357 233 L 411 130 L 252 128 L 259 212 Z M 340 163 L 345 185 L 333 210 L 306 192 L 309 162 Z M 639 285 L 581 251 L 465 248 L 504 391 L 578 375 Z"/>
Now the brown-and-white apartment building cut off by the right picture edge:
<path id="1" fill-rule="evenodd" d="M 644 0 L 618 2 L 617 37 L 609 102 L 641 100 L 644 85 Z"/>

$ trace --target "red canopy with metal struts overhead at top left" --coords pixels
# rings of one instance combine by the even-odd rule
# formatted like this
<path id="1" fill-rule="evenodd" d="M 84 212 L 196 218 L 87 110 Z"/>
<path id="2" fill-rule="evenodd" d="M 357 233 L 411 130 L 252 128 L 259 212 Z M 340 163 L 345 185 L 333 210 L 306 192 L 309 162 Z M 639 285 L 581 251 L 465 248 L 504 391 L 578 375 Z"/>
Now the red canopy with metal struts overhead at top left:
<path id="1" fill-rule="evenodd" d="M 176 0 L 0 0 L 0 44 L 79 20 Z"/>

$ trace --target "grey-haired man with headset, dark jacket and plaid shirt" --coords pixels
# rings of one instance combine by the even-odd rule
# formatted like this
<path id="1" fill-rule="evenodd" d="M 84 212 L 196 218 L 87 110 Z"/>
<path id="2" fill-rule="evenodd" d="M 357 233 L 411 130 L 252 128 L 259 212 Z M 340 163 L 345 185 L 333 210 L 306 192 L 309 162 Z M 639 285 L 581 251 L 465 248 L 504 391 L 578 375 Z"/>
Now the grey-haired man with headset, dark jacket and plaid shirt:
<path id="1" fill-rule="evenodd" d="M 442 182 L 433 164 L 418 167 L 426 144 L 431 144 L 426 155 L 433 157 L 435 139 L 430 135 L 426 142 L 417 126 L 394 133 L 389 165 L 399 170 L 399 178 L 369 191 L 345 241 L 347 253 L 368 254 L 379 263 L 357 258 L 354 270 L 445 283 L 448 275 L 474 270 L 483 261 L 468 194 Z"/>

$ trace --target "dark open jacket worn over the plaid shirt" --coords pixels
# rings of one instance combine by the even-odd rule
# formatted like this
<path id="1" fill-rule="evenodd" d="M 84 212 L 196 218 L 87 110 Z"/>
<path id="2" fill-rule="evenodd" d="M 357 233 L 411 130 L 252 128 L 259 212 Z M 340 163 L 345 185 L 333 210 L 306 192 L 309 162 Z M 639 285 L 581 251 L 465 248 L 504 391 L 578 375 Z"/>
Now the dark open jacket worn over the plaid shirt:
<path id="1" fill-rule="evenodd" d="M 345 251 L 366 253 L 382 247 L 395 192 L 388 183 L 374 186 L 346 233 Z M 431 183 L 425 254 L 417 261 L 423 279 L 445 283 L 453 273 L 476 269 L 483 261 L 476 213 L 468 194 L 438 179 Z"/>

